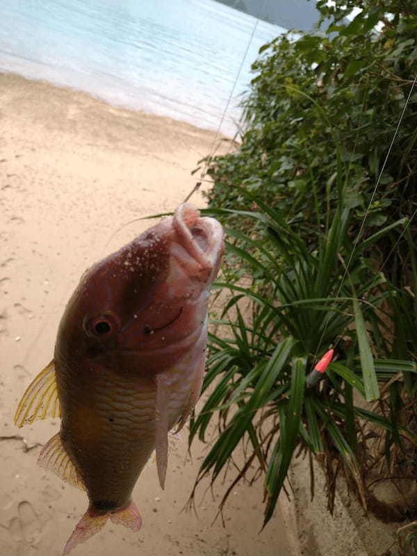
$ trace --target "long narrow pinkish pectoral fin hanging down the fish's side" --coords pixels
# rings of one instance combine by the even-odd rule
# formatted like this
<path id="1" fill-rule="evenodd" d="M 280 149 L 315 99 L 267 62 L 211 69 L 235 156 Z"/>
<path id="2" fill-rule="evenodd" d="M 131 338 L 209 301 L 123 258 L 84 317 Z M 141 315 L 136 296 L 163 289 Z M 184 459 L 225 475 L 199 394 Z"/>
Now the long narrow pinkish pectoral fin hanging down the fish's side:
<path id="1" fill-rule="evenodd" d="M 161 489 L 165 486 L 168 465 L 168 404 L 170 391 L 165 377 L 156 377 L 156 468 Z"/>

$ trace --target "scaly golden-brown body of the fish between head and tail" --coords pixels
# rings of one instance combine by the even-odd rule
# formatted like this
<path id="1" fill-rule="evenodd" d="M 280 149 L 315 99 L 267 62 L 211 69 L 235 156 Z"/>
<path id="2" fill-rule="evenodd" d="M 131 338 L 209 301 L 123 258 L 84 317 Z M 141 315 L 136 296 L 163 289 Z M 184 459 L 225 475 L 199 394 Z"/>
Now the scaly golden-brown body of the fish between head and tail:
<path id="1" fill-rule="evenodd" d="M 199 366 L 184 358 L 163 373 L 169 384 L 167 427 L 188 408 Z M 191 361 L 193 362 L 193 361 Z M 131 379 L 101 372 L 93 395 L 66 404 L 61 437 L 97 509 L 123 507 L 155 449 L 157 384 L 154 378 Z"/>

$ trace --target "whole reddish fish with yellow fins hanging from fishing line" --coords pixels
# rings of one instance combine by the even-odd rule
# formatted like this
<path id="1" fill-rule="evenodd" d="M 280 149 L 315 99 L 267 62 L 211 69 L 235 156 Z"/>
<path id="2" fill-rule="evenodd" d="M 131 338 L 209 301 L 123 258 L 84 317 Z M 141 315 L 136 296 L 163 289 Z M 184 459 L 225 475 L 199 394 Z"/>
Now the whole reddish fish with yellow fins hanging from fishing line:
<path id="1" fill-rule="evenodd" d="M 15 414 L 18 427 L 60 417 L 38 464 L 87 493 L 64 555 L 108 519 L 140 530 L 131 493 L 154 452 L 164 488 L 168 432 L 181 430 L 202 389 L 223 250 L 220 222 L 183 203 L 86 270 L 70 297 L 54 359 Z"/>

